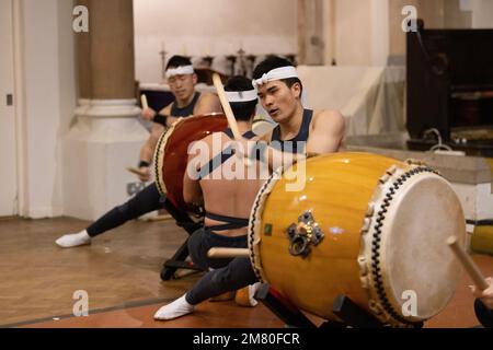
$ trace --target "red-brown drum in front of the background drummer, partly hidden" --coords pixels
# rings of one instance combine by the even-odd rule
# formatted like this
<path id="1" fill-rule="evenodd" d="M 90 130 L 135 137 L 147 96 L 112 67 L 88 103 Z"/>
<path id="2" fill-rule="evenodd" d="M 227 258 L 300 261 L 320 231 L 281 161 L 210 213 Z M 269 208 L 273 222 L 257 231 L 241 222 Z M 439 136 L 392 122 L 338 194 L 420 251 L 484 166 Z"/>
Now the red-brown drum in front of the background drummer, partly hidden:
<path id="1" fill-rule="evenodd" d="M 154 153 L 156 184 L 161 195 L 179 210 L 187 210 L 183 199 L 183 176 L 188 145 L 228 127 L 223 114 L 213 113 L 176 120 L 159 139 Z"/>

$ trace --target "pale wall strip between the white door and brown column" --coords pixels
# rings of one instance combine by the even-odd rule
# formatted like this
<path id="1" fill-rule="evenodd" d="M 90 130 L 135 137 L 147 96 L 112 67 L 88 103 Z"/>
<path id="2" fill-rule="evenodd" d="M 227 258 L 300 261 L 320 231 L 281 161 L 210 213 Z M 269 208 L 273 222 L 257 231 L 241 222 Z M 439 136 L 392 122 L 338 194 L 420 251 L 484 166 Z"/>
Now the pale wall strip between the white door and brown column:
<path id="1" fill-rule="evenodd" d="M 30 218 L 56 217 L 62 213 L 59 141 L 76 107 L 73 5 L 67 0 L 22 0 L 18 9 L 20 209 Z"/>

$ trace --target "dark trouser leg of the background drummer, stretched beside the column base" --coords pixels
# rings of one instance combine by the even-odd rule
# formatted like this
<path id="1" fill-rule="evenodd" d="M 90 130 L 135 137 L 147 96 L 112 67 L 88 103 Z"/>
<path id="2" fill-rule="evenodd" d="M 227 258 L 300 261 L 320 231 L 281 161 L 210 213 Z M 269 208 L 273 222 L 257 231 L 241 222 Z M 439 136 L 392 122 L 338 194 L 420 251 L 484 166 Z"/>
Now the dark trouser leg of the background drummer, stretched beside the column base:
<path id="1" fill-rule="evenodd" d="M 148 212 L 164 208 L 163 198 L 156 186 L 150 184 L 145 189 L 135 195 L 126 203 L 115 207 L 91 224 L 87 231 L 91 237 L 95 237 L 103 232 L 123 225 L 129 220 L 137 219 Z"/>

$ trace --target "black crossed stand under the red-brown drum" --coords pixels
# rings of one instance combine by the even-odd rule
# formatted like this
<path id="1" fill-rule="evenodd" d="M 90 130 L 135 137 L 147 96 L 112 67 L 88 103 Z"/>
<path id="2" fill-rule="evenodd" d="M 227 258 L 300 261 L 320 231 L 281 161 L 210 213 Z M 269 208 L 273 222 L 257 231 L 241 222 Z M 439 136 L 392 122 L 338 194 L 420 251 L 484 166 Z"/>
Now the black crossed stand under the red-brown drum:
<path id="1" fill-rule="evenodd" d="M 188 235 L 192 235 L 196 230 L 203 226 L 202 222 L 195 222 L 185 212 L 176 209 L 169 200 L 164 201 L 164 208 L 176 220 L 176 225 L 183 228 Z M 188 269 L 202 271 L 202 269 L 195 267 L 192 262 L 185 261 L 188 256 L 188 237 L 185 243 L 174 253 L 173 257 L 167 260 L 161 270 L 161 279 L 168 281 L 174 277 L 174 272 L 177 269 Z"/>

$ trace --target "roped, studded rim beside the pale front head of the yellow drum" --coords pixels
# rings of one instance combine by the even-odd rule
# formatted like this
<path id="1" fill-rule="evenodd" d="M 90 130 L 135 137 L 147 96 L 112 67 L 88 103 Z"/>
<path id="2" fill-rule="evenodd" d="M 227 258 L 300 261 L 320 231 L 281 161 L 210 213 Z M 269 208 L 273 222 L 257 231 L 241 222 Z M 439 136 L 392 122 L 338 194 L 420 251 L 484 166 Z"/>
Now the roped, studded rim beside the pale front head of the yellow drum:
<path id="1" fill-rule="evenodd" d="M 389 296 L 386 293 L 383 277 L 380 273 L 381 246 L 379 244 L 381 242 L 380 235 L 385 214 L 395 198 L 394 196 L 399 191 L 399 188 L 414 176 L 423 173 L 432 173 L 443 178 L 442 174 L 436 170 L 428 167 L 422 162 L 408 160 L 405 164 L 410 168 L 404 170 L 393 165 L 379 179 L 378 186 L 368 202 L 368 210 L 360 230 L 360 249 L 357 258 L 362 288 L 368 293 L 368 307 L 380 320 L 394 326 L 416 326 L 422 320 L 412 322 L 400 316 L 391 305 Z M 389 186 L 390 180 L 392 183 Z M 369 261 L 367 259 L 368 245 L 371 252 Z M 377 301 L 371 295 L 370 281 Z"/>

